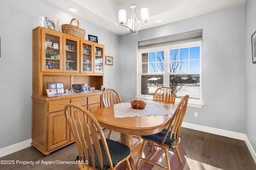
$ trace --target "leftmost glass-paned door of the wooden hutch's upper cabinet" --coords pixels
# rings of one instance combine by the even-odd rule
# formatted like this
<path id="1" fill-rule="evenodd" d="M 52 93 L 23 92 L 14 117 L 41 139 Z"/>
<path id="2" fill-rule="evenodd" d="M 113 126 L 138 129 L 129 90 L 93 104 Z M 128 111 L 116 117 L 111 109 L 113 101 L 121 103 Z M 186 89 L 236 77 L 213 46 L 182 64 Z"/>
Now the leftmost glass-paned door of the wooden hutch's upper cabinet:
<path id="1" fill-rule="evenodd" d="M 42 71 L 62 72 L 62 35 L 42 30 Z"/>

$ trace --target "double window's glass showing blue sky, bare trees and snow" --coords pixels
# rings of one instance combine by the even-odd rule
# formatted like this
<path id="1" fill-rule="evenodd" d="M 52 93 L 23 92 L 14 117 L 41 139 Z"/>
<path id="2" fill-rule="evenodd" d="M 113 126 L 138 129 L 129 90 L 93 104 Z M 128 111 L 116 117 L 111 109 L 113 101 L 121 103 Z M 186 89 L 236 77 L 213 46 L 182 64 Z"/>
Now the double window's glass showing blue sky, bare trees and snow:
<path id="1" fill-rule="evenodd" d="M 169 84 L 178 98 L 189 94 L 190 98 L 200 99 L 200 47 L 170 49 L 169 52 L 169 59 L 164 50 L 142 53 L 141 94 L 153 95 L 157 88 Z M 169 70 L 164 67 L 167 61 Z M 169 74 L 166 85 L 165 74 Z"/>

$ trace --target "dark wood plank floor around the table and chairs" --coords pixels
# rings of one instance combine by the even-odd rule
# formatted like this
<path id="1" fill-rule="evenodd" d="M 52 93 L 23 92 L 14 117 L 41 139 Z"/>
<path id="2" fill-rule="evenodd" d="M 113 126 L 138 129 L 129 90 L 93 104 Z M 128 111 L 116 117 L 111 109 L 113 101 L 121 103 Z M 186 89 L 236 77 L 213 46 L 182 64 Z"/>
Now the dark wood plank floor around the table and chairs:
<path id="1" fill-rule="evenodd" d="M 105 135 L 108 129 L 104 129 Z M 182 146 L 186 150 L 186 165 L 184 170 L 256 170 L 256 164 L 250 155 L 244 141 L 182 128 Z M 111 139 L 119 139 L 120 134 L 111 133 Z M 45 156 L 34 147 L 28 147 L 0 160 L 14 160 L 14 164 L 0 164 L 0 170 L 78 170 L 76 164 L 44 164 L 42 161 L 74 161 L 77 156 L 76 144 L 73 143 Z M 22 165 L 18 161 L 39 161 L 39 164 Z M 22 162 L 21 162 L 22 163 Z"/>

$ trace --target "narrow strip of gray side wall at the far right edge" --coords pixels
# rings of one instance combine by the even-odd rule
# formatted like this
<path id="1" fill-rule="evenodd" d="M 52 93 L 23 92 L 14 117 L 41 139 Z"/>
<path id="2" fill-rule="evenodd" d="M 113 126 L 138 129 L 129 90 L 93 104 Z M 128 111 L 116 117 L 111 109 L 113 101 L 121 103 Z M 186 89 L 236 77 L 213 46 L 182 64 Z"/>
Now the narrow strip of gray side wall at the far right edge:
<path id="1" fill-rule="evenodd" d="M 246 57 L 245 70 L 246 70 L 246 136 L 248 137 L 252 147 L 256 150 L 256 114 L 255 114 L 255 103 L 256 103 L 256 64 L 252 64 L 252 45 L 251 36 L 256 31 L 256 1 L 247 0 L 246 2 Z"/>

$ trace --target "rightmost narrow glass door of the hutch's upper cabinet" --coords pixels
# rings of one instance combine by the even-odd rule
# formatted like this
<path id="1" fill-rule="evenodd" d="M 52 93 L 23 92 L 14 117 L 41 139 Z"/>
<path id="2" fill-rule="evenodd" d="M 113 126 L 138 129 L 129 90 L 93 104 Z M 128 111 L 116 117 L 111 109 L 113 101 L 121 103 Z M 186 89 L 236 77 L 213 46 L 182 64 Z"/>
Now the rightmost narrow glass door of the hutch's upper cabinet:
<path id="1" fill-rule="evenodd" d="M 95 44 L 94 47 L 94 53 L 95 53 L 95 66 L 94 66 L 94 73 L 103 73 L 104 69 L 104 45 Z"/>

